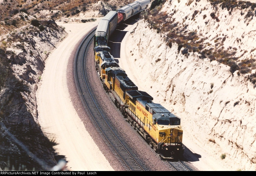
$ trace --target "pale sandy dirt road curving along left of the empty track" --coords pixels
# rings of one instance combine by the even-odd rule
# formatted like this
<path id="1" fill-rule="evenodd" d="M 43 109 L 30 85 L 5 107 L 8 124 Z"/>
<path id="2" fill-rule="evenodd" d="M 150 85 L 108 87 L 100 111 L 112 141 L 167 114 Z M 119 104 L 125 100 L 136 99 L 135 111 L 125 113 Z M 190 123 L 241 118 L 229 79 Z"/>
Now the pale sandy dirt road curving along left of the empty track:
<path id="1" fill-rule="evenodd" d="M 66 156 L 67 169 L 74 171 L 113 170 L 73 107 L 68 92 L 69 80 L 66 77 L 67 63 L 72 50 L 97 24 L 98 21 L 59 24 L 65 27 L 68 36 L 49 55 L 37 91 L 40 125 L 44 132 L 54 136 L 59 143 L 56 151 Z"/>

